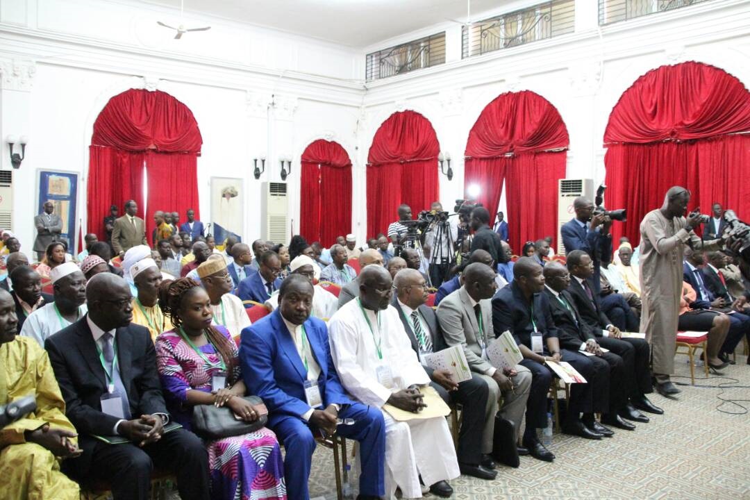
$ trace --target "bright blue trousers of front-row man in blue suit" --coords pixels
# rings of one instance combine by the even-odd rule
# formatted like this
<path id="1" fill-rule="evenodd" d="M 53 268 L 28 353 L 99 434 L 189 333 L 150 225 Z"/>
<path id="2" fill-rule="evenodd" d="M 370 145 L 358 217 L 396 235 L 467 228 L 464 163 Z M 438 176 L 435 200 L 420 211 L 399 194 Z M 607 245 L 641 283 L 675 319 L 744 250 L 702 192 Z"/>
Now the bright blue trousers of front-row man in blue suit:
<path id="1" fill-rule="evenodd" d="M 340 418 L 353 418 L 353 425 L 338 427 L 337 434 L 359 442 L 359 493 L 368 496 L 386 494 L 383 464 L 386 461 L 386 424 L 380 409 L 354 403 L 344 406 Z M 315 451 L 315 437 L 305 421 L 293 416 L 275 419 L 272 430 L 284 443 L 284 481 L 290 500 L 309 499 L 308 478 Z"/>

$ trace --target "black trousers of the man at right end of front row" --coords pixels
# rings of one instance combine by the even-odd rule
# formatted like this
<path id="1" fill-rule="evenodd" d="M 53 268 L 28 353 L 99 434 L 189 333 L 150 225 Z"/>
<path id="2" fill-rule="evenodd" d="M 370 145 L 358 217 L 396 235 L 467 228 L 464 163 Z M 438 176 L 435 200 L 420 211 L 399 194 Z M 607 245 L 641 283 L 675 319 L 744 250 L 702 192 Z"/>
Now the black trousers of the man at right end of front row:
<path id="1" fill-rule="evenodd" d="M 596 337 L 596 342 L 622 358 L 622 394 L 626 399 L 653 392 L 649 371 L 651 349 L 646 340 Z M 610 392 L 610 397 L 612 394 Z"/>

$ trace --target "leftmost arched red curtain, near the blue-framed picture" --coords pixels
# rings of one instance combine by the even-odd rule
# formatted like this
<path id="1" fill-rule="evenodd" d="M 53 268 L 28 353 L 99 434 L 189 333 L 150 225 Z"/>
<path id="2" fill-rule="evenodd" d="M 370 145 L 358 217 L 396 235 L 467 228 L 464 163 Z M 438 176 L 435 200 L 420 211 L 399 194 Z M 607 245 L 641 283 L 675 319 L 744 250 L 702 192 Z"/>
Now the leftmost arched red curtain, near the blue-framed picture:
<path id="1" fill-rule="evenodd" d="M 89 148 L 89 232 L 104 238 L 110 205 L 134 199 L 151 235 L 154 221 L 143 213 L 143 162 L 148 171 L 148 211 L 187 208 L 199 217 L 196 157 L 202 137 L 193 113 L 161 91 L 130 89 L 115 95 L 94 124 Z M 153 172 L 151 170 L 153 169 Z"/>

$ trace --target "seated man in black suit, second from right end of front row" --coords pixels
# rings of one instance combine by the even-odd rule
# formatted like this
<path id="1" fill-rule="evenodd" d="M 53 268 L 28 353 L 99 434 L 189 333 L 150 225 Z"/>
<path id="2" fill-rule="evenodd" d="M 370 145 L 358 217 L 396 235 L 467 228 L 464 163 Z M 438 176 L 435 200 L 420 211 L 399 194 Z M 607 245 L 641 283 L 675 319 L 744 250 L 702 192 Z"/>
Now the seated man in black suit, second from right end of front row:
<path id="1" fill-rule="evenodd" d="M 594 334 L 585 328 L 574 298 L 568 292 L 570 279 L 568 269 L 559 262 L 544 266 L 544 295 L 550 303 L 560 346 L 592 354 L 589 361 L 594 364 L 594 379 L 589 383 L 594 384 L 594 412 L 601 413 L 602 423 L 634 430 L 633 424 L 618 415 L 628 401 L 625 380 L 632 379 L 633 374 L 625 371 L 622 358 L 614 352 L 602 352 Z"/>

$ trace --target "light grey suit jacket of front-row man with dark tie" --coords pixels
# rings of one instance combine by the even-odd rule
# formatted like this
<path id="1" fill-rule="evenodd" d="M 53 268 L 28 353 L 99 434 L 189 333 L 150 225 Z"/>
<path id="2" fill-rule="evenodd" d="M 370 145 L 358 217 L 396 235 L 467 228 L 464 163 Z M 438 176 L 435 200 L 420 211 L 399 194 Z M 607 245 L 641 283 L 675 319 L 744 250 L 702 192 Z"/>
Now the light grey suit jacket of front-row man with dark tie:
<path id="1" fill-rule="evenodd" d="M 469 293 L 462 286 L 448 295 L 437 307 L 437 319 L 443 330 L 443 339 L 448 346 L 463 345 L 463 354 L 473 372 L 486 373 L 492 368 L 489 361 L 481 358 L 481 346 L 494 337 L 492 333 L 492 304 L 489 300 L 479 301 L 481 307 L 482 335 Z"/>

